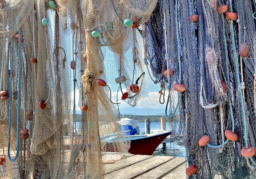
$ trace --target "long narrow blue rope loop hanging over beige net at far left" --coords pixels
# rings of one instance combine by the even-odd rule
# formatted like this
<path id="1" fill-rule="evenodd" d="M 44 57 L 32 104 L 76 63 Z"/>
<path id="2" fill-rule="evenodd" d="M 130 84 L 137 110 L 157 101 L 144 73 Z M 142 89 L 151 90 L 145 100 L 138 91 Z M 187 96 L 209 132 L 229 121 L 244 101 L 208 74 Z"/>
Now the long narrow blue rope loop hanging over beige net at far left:
<path id="1" fill-rule="evenodd" d="M 19 145 L 20 145 L 20 136 L 19 136 L 19 129 L 20 129 L 20 43 L 21 43 L 21 30 L 19 29 L 19 44 L 18 44 L 18 106 L 17 106 L 17 148 L 16 148 L 16 155 L 13 159 L 10 157 L 10 141 L 11 141 L 11 85 L 12 85 L 12 63 L 13 63 L 13 39 L 11 41 L 11 62 L 10 62 L 10 95 L 9 95 L 9 131 L 8 131 L 8 158 L 10 161 L 15 161 L 18 157 L 19 153 Z"/>

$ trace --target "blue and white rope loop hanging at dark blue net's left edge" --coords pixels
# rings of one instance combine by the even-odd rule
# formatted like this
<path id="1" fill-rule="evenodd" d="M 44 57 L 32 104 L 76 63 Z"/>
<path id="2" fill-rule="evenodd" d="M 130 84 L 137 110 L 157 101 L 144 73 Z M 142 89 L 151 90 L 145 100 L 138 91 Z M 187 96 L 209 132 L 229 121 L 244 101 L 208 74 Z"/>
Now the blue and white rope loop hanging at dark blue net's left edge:
<path id="1" fill-rule="evenodd" d="M 165 12 L 165 10 L 164 10 Z M 175 24 L 176 24 L 176 38 L 177 38 L 177 49 L 178 49 L 178 62 L 179 62 L 179 81 L 178 83 L 180 84 L 181 83 L 181 60 L 180 60 L 180 38 L 179 38 L 179 25 L 178 25 L 178 1 L 175 0 Z M 164 13 L 164 35 L 165 35 L 165 50 L 166 50 L 166 53 L 165 53 L 165 60 L 166 60 L 166 63 L 167 63 L 167 75 L 168 75 L 168 98 L 167 98 L 167 102 L 166 102 L 166 108 L 165 108 L 165 116 L 167 118 L 171 118 L 173 117 L 173 115 L 175 115 L 177 109 L 178 109 L 178 106 L 179 106 L 179 101 L 180 101 L 180 92 L 178 92 L 177 94 L 177 105 L 174 109 L 174 111 L 172 112 L 171 110 L 171 105 L 170 105 L 170 110 L 171 110 L 171 114 L 170 115 L 167 115 L 167 108 L 168 108 L 168 102 L 169 102 L 169 99 L 171 98 L 171 85 L 170 85 L 170 75 L 169 75 L 169 54 L 168 54 L 168 48 L 167 48 L 167 26 L 166 26 L 166 17 L 165 17 L 165 13 Z M 170 99 L 170 103 L 171 103 L 171 99 Z"/>

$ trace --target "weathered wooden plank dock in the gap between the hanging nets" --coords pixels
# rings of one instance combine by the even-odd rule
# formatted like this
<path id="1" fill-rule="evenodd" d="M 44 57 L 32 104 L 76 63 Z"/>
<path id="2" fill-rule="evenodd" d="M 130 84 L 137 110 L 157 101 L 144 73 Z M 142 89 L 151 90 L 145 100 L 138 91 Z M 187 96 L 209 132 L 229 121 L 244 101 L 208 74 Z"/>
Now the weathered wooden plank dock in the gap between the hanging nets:
<path id="1" fill-rule="evenodd" d="M 129 155 L 117 162 L 124 165 L 109 166 L 105 179 L 186 179 L 185 157 Z"/>

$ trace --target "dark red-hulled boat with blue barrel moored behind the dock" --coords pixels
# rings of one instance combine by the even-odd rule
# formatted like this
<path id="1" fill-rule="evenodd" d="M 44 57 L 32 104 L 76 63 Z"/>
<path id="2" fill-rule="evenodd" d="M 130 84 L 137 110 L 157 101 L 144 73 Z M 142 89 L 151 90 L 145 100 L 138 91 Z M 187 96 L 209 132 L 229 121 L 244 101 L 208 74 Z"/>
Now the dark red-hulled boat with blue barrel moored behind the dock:
<path id="1" fill-rule="evenodd" d="M 125 122 L 126 123 L 125 123 Z M 128 152 L 131 154 L 138 155 L 152 155 L 155 149 L 159 146 L 159 144 L 166 139 L 166 137 L 171 135 L 170 131 L 166 130 L 150 130 L 150 134 L 137 134 L 137 130 L 139 130 L 139 126 L 137 120 L 132 119 L 121 119 L 120 120 L 122 131 L 122 140 L 130 141 L 130 149 Z M 127 127 L 124 127 L 126 126 Z M 132 127 L 131 127 L 132 126 Z M 130 129 L 130 130 L 125 130 Z M 136 131 L 134 131 L 136 129 Z M 132 131 L 132 132 L 131 132 Z M 132 133 L 132 135 L 131 135 Z M 117 134 L 112 134 L 108 136 L 101 137 L 101 142 L 104 143 L 103 151 L 104 152 L 119 152 L 117 147 L 115 147 L 115 142 L 117 141 Z"/>

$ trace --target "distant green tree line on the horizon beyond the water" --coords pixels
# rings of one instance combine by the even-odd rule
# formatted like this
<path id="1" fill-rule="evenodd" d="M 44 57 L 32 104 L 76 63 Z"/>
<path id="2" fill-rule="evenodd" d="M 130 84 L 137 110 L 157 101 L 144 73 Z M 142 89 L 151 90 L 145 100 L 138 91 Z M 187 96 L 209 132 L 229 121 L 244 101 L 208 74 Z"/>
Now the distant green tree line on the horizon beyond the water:
<path id="1" fill-rule="evenodd" d="M 145 119 L 150 119 L 150 122 L 161 122 L 161 117 L 163 115 L 131 115 L 131 114 L 124 114 L 120 115 L 120 119 L 122 118 L 129 118 L 133 120 L 138 120 L 139 122 L 144 122 Z M 76 114 L 76 121 L 81 121 L 81 114 Z"/>

